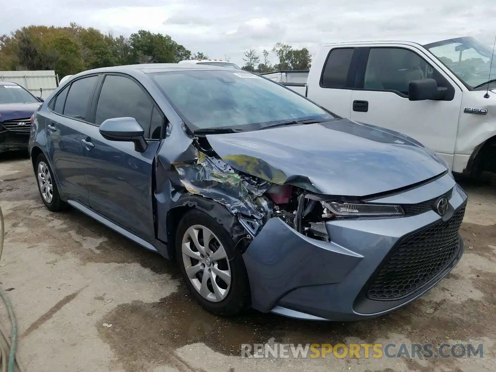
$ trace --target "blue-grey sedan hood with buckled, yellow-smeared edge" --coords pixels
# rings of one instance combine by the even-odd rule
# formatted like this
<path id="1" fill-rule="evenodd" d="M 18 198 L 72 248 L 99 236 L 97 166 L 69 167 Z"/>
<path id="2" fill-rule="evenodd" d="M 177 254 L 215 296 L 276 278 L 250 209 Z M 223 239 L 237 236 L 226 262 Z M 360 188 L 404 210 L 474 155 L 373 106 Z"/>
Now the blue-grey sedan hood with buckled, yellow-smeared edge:
<path id="1" fill-rule="evenodd" d="M 206 137 L 234 169 L 327 195 L 372 195 L 447 170 L 410 137 L 348 119 Z"/>

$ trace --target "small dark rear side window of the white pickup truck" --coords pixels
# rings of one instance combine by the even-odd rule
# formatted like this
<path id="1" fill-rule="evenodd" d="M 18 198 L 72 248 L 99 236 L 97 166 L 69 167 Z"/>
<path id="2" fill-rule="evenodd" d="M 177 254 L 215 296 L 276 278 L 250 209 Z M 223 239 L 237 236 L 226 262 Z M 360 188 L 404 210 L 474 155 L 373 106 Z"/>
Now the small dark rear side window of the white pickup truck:
<path id="1" fill-rule="evenodd" d="M 331 50 L 322 73 L 322 88 L 344 88 L 354 48 Z"/>

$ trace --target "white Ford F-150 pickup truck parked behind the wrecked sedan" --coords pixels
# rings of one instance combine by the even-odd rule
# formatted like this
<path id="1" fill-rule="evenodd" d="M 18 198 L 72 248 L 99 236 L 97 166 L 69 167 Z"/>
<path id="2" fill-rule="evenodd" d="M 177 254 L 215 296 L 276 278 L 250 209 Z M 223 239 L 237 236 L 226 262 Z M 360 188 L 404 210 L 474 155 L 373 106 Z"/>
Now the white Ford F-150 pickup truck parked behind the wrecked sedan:
<path id="1" fill-rule="evenodd" d="M 326 44 L 305 86 L 282 84 L 341 117 L 405 133 L 452 172 L 478 176 L 496 172 L 492 56 L 472 37 Z"/>

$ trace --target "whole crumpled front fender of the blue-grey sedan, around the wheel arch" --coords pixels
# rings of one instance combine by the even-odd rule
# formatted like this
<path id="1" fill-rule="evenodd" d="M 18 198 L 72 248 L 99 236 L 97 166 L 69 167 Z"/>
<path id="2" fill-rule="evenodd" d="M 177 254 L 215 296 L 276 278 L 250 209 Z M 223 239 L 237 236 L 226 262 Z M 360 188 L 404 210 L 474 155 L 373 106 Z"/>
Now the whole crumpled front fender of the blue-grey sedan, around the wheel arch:
<path id="1" fill-rule="evenodd" d="M 224 226 L 235 242 L 256 235 L 267 216 L 262 195 L 271 184 L 234 170 L 183 128 L 169 127 L 155 158 L 154 214 L 157 238 L 171 242 L 179 219 L 188 208 L 198 208 Z"/>

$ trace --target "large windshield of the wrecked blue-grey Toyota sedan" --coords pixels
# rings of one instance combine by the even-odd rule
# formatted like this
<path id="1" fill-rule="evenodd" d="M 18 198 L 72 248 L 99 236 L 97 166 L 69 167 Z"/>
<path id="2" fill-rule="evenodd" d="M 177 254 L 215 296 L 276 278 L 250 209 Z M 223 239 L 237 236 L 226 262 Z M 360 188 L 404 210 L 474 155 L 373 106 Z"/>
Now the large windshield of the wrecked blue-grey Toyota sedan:
<path id="1" fill-rule="evenodd" d="M 333 118 L 292 90 L 248 72 L 174 71 L 154 73 L 152 79 L 191 130 L 251 130 Z"/>

